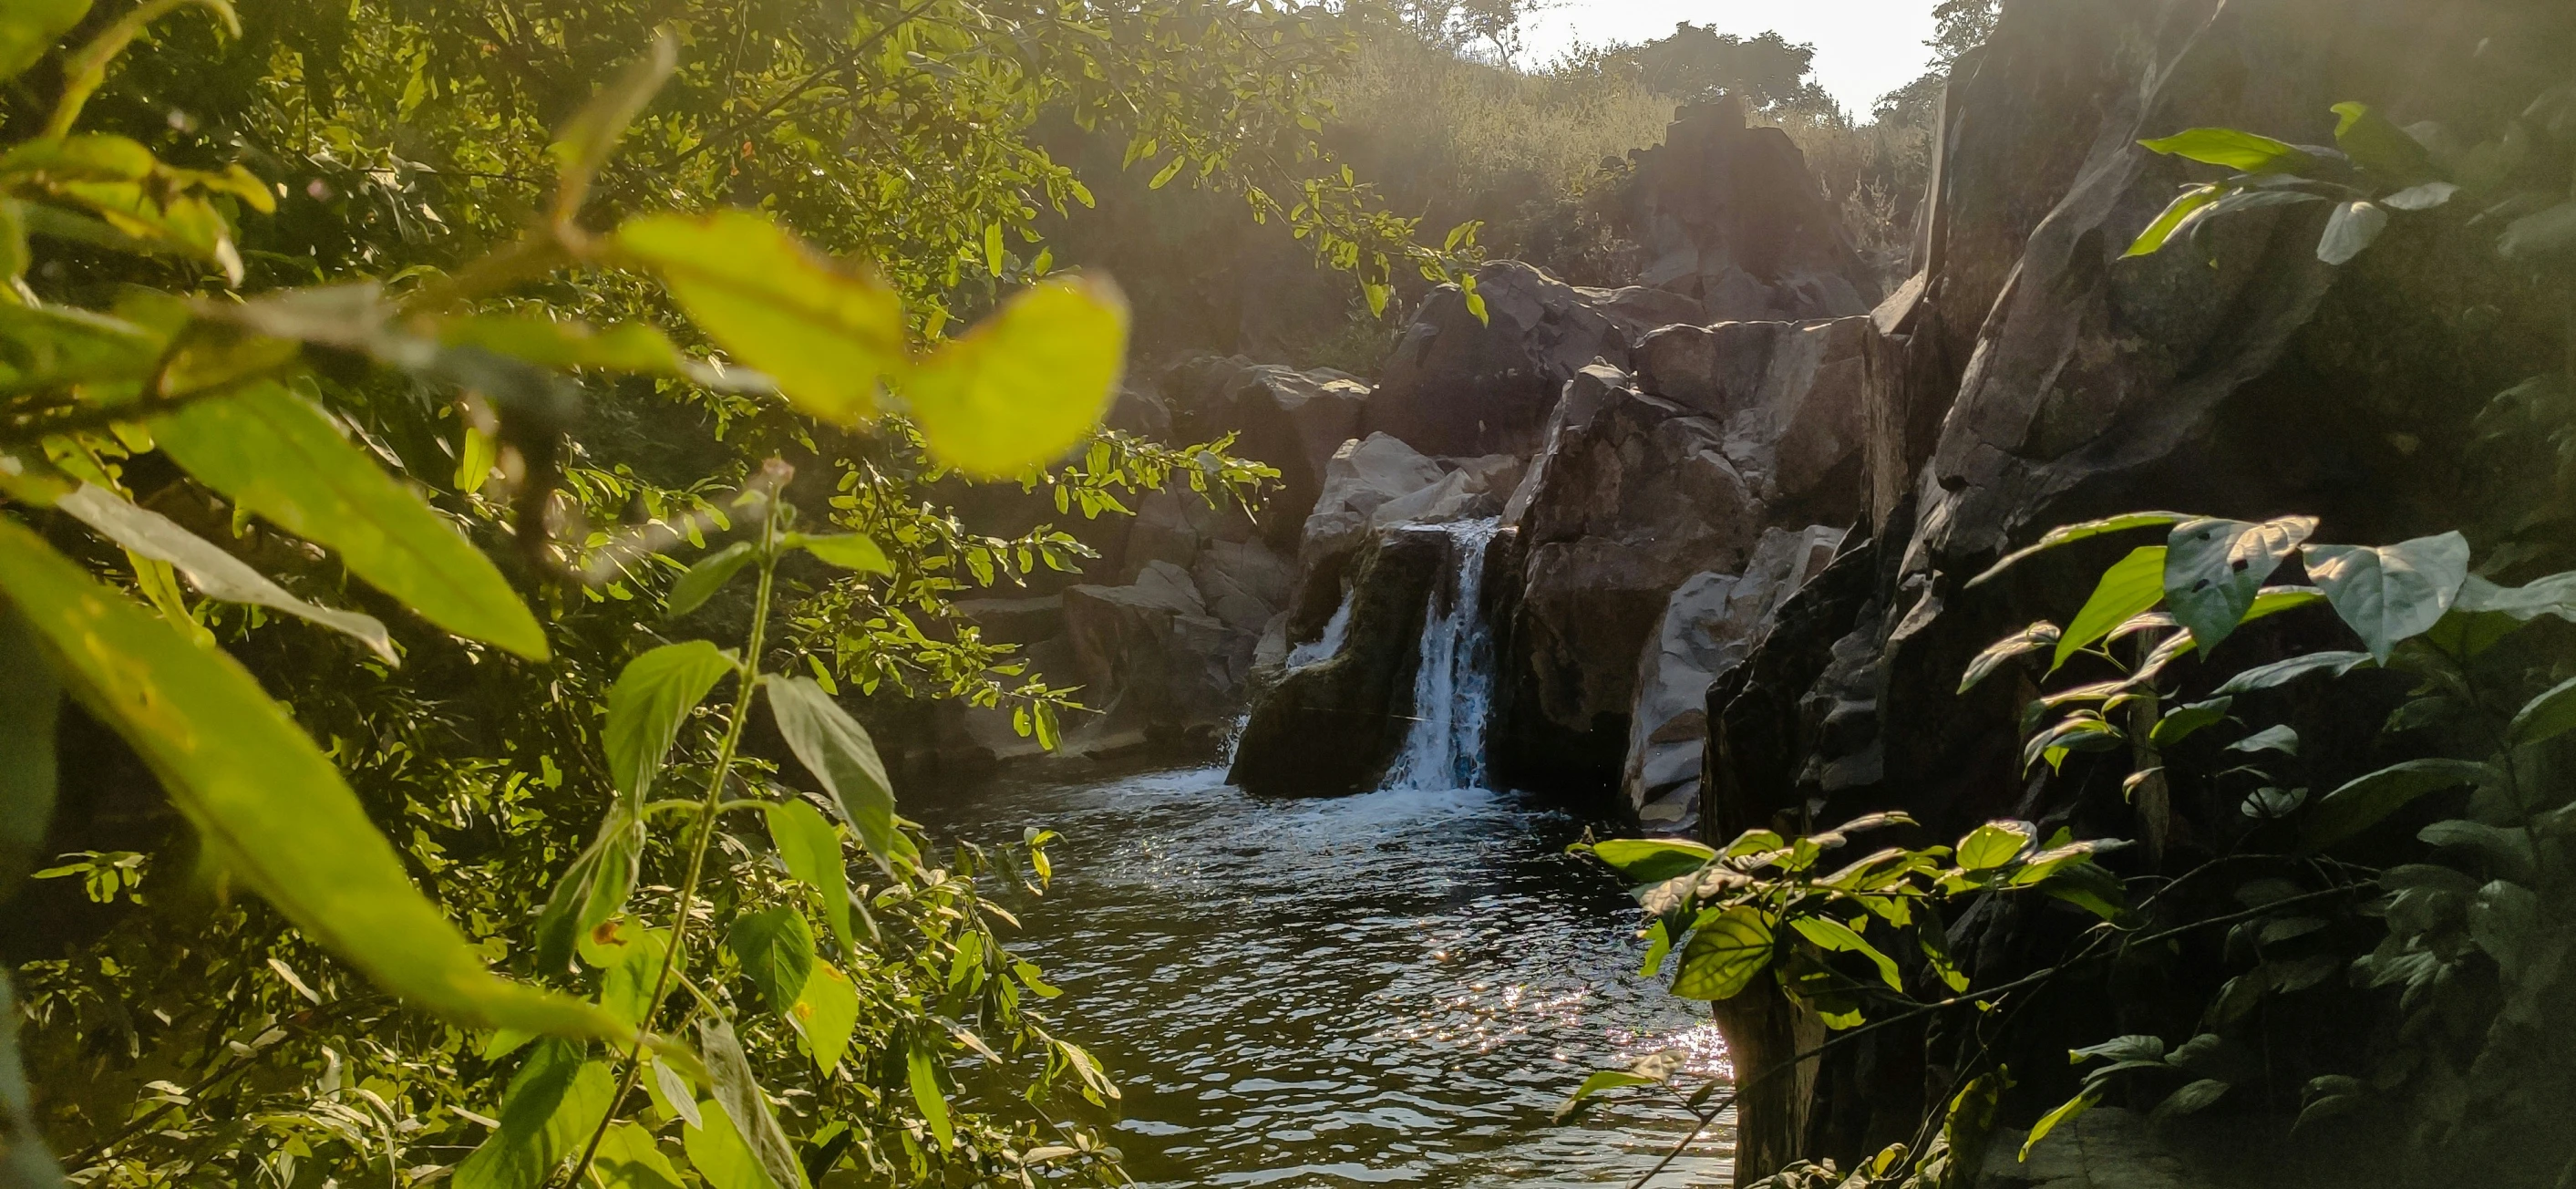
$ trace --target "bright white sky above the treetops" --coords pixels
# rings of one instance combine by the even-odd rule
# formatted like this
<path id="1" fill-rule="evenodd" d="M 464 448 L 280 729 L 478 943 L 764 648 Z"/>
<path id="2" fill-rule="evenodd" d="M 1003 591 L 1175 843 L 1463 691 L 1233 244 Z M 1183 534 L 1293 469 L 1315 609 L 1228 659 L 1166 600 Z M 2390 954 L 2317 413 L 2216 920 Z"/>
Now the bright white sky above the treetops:
<path id="1" fill-rule="evenodd" d="M 1646 41 L 1677 21 L 1718 34 L 1780 36 L 1816 46 L 1816 83 L 1855 116 L 1914 83 L 1932 52 L 1935 0 L 1553 0 L 1522 23 L 1522 62 L 1546 62 L 1574 41 Z"/>

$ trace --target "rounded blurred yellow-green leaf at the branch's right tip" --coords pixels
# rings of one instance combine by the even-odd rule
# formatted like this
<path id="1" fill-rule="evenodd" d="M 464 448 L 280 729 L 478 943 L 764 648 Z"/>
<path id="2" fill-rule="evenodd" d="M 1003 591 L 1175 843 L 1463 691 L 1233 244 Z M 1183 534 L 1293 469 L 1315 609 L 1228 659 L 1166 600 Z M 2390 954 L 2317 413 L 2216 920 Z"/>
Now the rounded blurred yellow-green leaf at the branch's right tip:
<path id="1" fill-rule="evenodd" d="M 1126 335 L 1126 297 L 1103 279 L 1023 289 L 904 382 L 930 457 L 984 477 L 1054 462 L 1108 413 Z"/>

